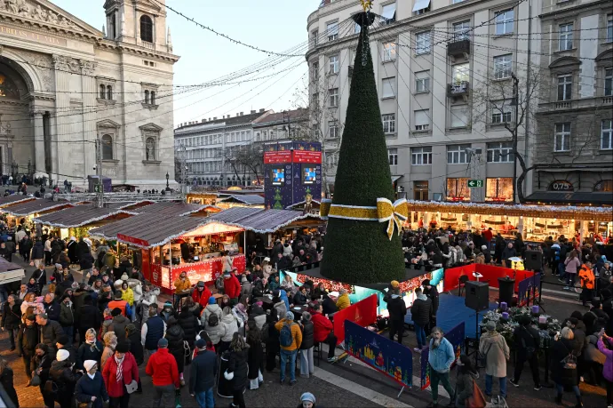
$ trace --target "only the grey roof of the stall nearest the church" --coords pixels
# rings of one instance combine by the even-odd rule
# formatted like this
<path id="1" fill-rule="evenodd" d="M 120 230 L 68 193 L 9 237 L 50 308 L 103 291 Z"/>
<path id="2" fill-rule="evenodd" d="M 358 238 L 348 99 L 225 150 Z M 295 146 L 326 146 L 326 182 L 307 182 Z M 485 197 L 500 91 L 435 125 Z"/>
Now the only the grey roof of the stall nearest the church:
<path id="1" fill-rule="evenodd" d="M 107 220 L 119 214 L 131 216 L 130 212 L 122 210 L 99 208 L 92 205 L 76 205 L 37 217 L 34 222 L 55 228 L 77 228 L 92 222 Z"/>

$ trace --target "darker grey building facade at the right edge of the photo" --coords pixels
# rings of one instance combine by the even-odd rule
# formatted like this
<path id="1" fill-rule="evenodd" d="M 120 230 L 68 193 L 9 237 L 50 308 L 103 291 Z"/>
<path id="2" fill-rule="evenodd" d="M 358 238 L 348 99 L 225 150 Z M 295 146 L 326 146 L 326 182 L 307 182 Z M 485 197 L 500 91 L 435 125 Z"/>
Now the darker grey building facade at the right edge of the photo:
<path id="1" fill-rule="evenodd" d="M 611 3 L 547 0 L 540 13 L 544 80 L 529 199 L 613 204 Z"/>

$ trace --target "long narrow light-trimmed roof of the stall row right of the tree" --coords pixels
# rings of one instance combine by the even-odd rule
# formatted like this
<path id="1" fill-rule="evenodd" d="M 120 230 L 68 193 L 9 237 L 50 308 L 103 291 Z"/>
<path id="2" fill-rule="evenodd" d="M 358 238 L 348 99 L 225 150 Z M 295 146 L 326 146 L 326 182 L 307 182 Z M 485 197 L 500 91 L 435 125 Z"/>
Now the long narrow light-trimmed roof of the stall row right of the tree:
<path id="1" fill-rule="evenodd" d="M 610 207 L 577 207 L 561 205 L 444 203 L 438 201 L 409 202 L 409 211 L 455 212 L 467 214 L 508 215 L 513 217 L 558 218 L 567 220 L 613 221 Z"/>

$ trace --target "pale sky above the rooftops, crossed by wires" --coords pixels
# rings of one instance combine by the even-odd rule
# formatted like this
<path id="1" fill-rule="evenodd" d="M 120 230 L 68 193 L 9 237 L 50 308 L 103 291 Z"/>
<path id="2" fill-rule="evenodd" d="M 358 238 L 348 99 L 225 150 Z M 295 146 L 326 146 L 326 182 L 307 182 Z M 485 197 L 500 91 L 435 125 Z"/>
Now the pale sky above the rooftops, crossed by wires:
<path id="1" fill-rule="evenodd" d="M 52 0 L 62 9 L 101 29 L 106 22 L 104 0 Z M 285 52 L 306 44 L 306 18 L 321 0 L 166 0 L 166 4 L 204 26 L 246 44 L 271 52 Z M 95 4 L 98 4 L 94 6 Z M 203 84 L 267 60 L 267 53 L 234 44 L 171 10 L 166 24 L 171 28 L 173 53 L 180 56 L 174 65 L 174 84 Z M 304 54 L 306 48 L 299 52 Z M 225 84 L 179 93 L 174 100 L 174 124 L 202 118 L 272 108 L 276 112 L 296 108 L 296 92 L 306 84 L 306 60 L 294 57 L 270 64 L 252 76 L 227 78 L 243 84 Z M 261 66 L 260 66 L 261 67 Z M 277 73 L 278 75 L 272 76 Z M 300 92 L 299 92 L 300 93 Z"/>

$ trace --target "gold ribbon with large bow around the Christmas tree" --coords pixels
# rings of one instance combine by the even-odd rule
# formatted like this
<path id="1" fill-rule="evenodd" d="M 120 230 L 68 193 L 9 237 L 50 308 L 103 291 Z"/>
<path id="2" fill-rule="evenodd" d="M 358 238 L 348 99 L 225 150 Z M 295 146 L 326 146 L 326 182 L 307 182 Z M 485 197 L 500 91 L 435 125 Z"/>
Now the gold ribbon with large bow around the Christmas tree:
<path id="1" fill-rule="evenodd" d="M 324 199 L 319 208 L 322 218 L 387 222 L 386 232 L 390 240 L 394 236 L 394 225 L 400 235 L 402 223 L 409 218 L 409 204 L 404 198 L 394 203 L 387 198 L 378 198 L 377 206 L 372 207 L 332 204 L 330 199 Z"/>

